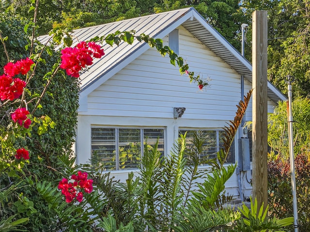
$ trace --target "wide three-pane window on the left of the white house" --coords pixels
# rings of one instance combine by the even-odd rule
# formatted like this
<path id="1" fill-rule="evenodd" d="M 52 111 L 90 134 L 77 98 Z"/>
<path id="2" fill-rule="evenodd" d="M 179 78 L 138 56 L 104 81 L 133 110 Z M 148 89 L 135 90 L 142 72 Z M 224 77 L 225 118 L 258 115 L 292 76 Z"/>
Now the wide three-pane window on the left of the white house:
<path id="1" fill-rule="evenodd" d="M 138 169 L 143 148 L 154 145 L 164 154 L 164 129 L 92 128 L 92 163 L 106 170 Z"/>

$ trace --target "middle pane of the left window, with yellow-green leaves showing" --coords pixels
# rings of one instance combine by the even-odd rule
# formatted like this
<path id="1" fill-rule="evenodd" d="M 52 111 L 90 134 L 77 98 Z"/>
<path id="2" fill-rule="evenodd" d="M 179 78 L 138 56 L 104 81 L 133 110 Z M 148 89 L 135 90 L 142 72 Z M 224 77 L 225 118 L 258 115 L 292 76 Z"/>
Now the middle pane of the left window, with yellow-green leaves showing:
<path id="1" fill-rule="evenodd" d="M 140 129 L 119 129 L 119 168 L 140 167 Z"/>

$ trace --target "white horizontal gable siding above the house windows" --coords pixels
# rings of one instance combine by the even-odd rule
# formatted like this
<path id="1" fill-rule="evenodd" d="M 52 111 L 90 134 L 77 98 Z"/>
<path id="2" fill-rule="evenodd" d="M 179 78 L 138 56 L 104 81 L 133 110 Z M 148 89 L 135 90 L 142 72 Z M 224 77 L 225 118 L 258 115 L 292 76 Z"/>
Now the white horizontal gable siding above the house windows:
<path id="1" fill-rule="evenodd" d="M 210 87 L 200 91 L 150 48 L 88 96 L 85 114 L 171 118 L 173 107 L 186 107 L 182 118 L 231 120 L 240 101 L 240 75 L 185 29 L 179 31 L 180 56 L 189 71 L 211 78 Z"/>

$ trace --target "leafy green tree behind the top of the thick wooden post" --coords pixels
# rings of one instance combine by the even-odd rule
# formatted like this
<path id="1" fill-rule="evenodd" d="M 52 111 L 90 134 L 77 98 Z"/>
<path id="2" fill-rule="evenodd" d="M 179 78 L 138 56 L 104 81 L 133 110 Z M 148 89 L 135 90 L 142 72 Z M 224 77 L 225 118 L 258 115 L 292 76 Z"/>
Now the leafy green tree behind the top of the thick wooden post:
<path id="1" fill-rule="evenodd" d="M 300 0 L 245 0 L 242 6 L 249 18 L 254 10 L 268 11 L 268 79 L 287 93 L 285 77 L 293 75 L 293 97 L 306 97 L 310 91 L 309 4 Z M 250 60 L 250 44 L 247 51 Z"/>

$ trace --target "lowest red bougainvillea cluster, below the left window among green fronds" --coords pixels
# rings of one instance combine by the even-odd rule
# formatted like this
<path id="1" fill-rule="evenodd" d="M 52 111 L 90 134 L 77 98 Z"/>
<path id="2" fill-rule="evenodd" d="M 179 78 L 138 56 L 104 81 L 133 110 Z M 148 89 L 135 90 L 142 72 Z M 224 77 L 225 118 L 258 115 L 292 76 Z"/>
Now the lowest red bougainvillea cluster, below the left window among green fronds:
<path id="1" fill-rule="evenodd" d="M 87 173 L 78 171 L 78 175 L 72 175 L 73 182 L 68 182 L 66 178 L 62 178 L 59 182 L 58 189 L 62 190 L 62 194 L 66 198 L 66 203 L 72 202 L 77 198 L 78 202 L 83 200 L 83 193 L 81 191 L 77 194 L 77 188 L 84 189 L 85 192 L 90 193 L 93 191 L 93 180 L 87 179 Z"/>

